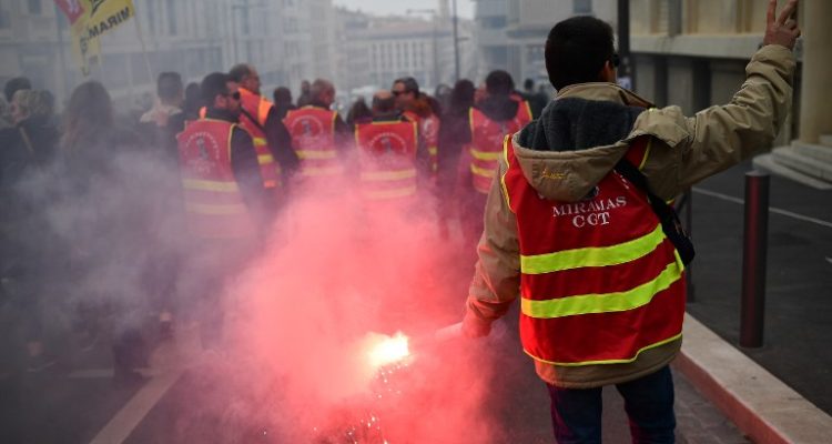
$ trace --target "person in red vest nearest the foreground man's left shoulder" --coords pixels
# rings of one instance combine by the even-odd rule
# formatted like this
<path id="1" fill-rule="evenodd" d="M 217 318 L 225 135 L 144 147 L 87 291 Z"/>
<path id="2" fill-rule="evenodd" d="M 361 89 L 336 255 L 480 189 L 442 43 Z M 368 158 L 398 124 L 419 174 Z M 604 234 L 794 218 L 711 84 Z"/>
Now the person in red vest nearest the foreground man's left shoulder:
<path id="1" fill-rule="evenodd" d="M 468 243 L 475 243 L 483 232 L 483 209 L 503 152 L 503 139 L 522 129 L 531 120 L 528 104 L 511 97 L 514 80 L 501 70 L 491 71 L 485 81 L 485 97 L 468 112 L 468 131 L 460 141 L 468 143 L 463 159 L 460 182 L 468 183 L 468 192 L 460 190 L 460 219 Z"/>

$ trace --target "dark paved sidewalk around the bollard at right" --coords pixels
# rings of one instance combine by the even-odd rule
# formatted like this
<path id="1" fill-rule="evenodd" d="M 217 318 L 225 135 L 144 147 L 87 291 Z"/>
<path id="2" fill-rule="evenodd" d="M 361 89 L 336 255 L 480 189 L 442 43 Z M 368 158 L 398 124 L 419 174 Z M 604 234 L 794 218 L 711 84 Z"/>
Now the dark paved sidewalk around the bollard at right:
<path id="1" fill-rule="evenodd" d="M 694 188 L 694 302 L 688 312 L 739 346 L 743 163 Z M 771 176 L 763 346 L 740 351 L 832 414 L 832 190 Z"/>

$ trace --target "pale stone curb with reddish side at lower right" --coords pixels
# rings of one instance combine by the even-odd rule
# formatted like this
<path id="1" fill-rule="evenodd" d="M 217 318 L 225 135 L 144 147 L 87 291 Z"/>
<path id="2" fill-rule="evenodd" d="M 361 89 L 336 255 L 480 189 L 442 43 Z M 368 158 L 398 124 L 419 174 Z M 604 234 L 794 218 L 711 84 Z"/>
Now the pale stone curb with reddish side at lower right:
<path id="1" fill-rule="evenodd" d="M 832 416 L 690 314 L 674 366 L 757 444 L 825 444 Z"/>

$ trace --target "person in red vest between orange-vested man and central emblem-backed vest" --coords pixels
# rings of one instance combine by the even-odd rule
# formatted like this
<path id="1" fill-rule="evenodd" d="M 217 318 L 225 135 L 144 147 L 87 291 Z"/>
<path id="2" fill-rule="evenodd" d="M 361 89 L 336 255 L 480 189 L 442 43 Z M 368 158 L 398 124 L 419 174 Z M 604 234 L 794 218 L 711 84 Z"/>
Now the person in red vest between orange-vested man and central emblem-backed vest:
<path id="1" fill-rule="evenodd" d="M 352 144 L 353 131 L 336 111 L 335 87 L 317 79 L 310 87 L 310 104 L 291 110 L 283 119 L 292 147 L 301 159 L 305 180 L 333 178 L 344 173 L 343 151 Z"/>

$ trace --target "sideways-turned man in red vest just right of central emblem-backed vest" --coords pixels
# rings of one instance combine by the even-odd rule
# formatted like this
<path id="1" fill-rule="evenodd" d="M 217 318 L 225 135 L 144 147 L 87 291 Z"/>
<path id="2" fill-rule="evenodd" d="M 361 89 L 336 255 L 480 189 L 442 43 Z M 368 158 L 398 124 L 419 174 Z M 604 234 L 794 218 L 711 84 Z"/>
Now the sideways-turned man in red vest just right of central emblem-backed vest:
<path id="1" fill-rule="evenodd" d="M 402 114 L 407 120 L 418 123 L 419 134 L 427 147 L 430 173 L 435 176 L 438 170 L 440 125 L 438 102 L 422 93 L 419 84 L 412 77 L 396 79 L 393 82 L 392 92 L 396 99 L 396 108 Z"/>

